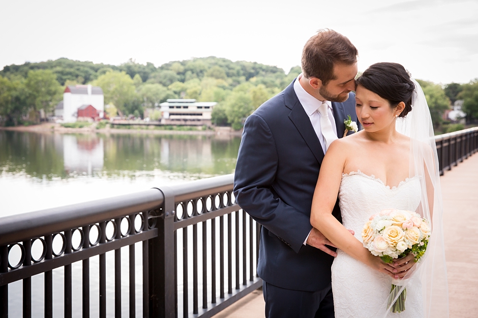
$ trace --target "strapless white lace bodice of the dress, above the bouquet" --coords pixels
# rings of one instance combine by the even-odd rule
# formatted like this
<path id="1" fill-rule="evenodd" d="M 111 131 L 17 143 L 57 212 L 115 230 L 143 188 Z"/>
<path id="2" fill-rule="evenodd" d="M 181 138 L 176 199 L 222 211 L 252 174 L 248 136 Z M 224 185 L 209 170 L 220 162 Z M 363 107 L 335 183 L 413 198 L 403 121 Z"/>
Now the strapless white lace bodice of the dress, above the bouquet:
<path id="1" fill-rule="evenodd" d="M 362 228 L 370 216 L 383 209 L 415 211 L 421 199 L 418 177 L 407 178 L 399 185 L 390 187 L 374 175 L 359 171 L 342 175 L 339 188 L 339 205 L 342 222 L 355 231 L 362 242 Z"/>

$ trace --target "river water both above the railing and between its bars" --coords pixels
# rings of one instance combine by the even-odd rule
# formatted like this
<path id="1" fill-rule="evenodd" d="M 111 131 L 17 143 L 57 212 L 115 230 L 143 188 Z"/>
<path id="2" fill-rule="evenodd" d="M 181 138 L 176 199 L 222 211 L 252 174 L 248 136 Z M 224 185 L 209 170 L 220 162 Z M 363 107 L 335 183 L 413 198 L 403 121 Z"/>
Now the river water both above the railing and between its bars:
<path id="1" fill-rule="evenodd" d="M 0 131 L 0 217 L 138 192 L 162 184 L 185 183 L 233 173 L 240 142 L 240 137 L 229 135 L 104 135 Z M 210 222 L 207 227 L 210 229 Z M 217 228 L 219 229 L 219 226 Z M 249 230 L 247 231 L 249 233 Z M 182 231 L 179 232 L 181 233 L 178 233 L 178 238 L 181 238 Z M 199 238 L 202 237 L 201 233 L 201 227 L 198 226 Z M 189 238 L 191 241 L 192 233 Z M 178 249 L 182 249 L 180 245 L 181 239 L 178 239 Z M 190 251 L 192 252 L 192 248 Z M 208 246 L 207 253 L 210 255 L 211 246 Z M 199 259 L 201 254 L 199 248 Z M 114 253 L 108 252 L 106 258 L 107 268 L 111 268 Z M 136 316 L 140 317 L 140 243 L 136 244 L 135 259 Z M 192 255 L 189 259 L 192 260 Z M 90 262 L 91 314 L 97 316 L 99 277 L 95 268 L 98 268 L 98 257 L 92 258 Z M 127 264 L 128 248 L 122 248 L 123 316 L 128 316 L 129 312 Z M 178 264 L 182 264 L 182 253 L 178 253 Z M 210 271 L 210 265 L 208 268 Z M 198 270 L 201 273 L 201 268 Z M 73 316 L 81 316 L 81 262 L 72 264 L 72 271 Z M 188 271 L 192 273 L 192 268 Z M 114 271 L 107 270 L 106 279 L 107 315 L 114 316 Z M 53 280 L 54 316 L 62 317 L 63 268 L 53 270 Z M 191 283 L 192 279 L 190 288 Z M 202 284 L 201 279 L 199 284 Z M 181 311 L 181 274 L 178 275 L 178 288 L 178 309 Z M 21 289 L 21 281 L 9 285 L 11 316 L 22 315 Z M 43 274 L 32 277 L 32 290 L 33 316 L 43 317 Z M 211 290 L 211 287 L 208 287 L 208 290 Z M 199 302 L 201 303 L 201 300 Z M 192 308 L 192 303 L 189 308 Z"/>

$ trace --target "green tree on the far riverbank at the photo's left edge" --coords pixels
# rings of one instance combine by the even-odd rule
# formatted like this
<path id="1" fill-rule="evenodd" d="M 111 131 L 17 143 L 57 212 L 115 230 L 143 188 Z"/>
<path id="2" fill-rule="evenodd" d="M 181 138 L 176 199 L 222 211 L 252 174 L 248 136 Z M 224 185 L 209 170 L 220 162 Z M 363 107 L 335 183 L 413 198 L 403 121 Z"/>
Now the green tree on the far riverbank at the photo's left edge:
<path id="1" fill-rule="evenodd" d="M 26 112 L 25 86 L 0 76 L 0 118 L 7 126 L 16 126 Z"/>

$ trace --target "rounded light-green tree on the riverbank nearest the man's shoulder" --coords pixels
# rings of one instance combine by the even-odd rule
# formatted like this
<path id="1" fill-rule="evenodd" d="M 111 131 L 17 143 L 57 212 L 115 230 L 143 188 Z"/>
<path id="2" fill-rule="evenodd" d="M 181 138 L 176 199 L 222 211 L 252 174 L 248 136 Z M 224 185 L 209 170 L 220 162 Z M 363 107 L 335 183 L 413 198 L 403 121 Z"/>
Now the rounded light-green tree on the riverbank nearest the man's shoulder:
<path id="1" fill-rule="evenodd" d="M 232 129 L 240 130 L 244 121 L 254 110 L 250 95 L 244 91 L 234 91 L 224 101 L 227 122 Z"/>

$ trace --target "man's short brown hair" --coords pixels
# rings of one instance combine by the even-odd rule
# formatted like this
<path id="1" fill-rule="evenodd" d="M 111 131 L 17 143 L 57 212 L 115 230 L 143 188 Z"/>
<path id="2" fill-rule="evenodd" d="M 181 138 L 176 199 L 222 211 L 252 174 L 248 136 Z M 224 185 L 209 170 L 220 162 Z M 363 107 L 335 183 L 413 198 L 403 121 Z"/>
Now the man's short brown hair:
<path id="1" fill-rule="evenodd" d="M 331 29 L 321 29 L 310 38 L 302 50 L 302 73 L 316 77 L 327 85 L 336 79 L 334 64 L 353 65 L 359 51 L 349 39 Z"/>

